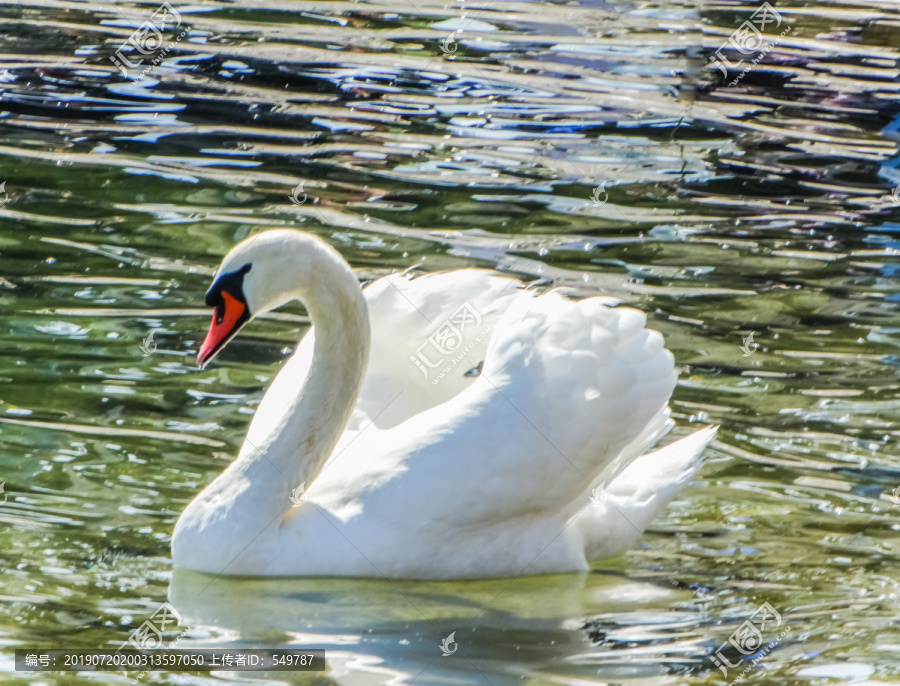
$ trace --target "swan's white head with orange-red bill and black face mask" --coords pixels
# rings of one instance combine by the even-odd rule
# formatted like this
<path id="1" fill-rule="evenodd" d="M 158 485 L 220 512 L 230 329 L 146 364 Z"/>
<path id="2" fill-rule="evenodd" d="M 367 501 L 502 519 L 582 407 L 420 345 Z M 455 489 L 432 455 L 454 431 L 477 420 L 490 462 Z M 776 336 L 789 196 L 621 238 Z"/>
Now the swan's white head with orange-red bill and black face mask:
<path id="1" fill-rule="evenodd" d="M 263 231 L 236 245 L 206 292 L 206 304 L 216 311 L 197 364 L 206 365 L 256 315 L 304 299 L 335 262 L 346 264 L 331 246 L 302 231 Z"/>

